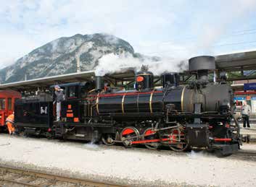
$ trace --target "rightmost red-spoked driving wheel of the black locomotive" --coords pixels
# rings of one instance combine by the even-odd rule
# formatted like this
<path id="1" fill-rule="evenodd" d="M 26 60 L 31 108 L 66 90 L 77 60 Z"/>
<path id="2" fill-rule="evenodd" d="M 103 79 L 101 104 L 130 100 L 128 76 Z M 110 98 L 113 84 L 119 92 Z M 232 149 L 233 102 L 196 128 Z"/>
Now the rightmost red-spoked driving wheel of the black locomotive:
<path id="1" fill-rule="evenodd" d="M 180 141 L 178 141 L 179 137 Z M 180 132 L 178 129 L 172 129 L 169 138 L 169 147 L 173 151 L 182 152 L 185 151 L 189 146 L 189 144 L 186 142 L 186 136 L 181 129 Z"/>

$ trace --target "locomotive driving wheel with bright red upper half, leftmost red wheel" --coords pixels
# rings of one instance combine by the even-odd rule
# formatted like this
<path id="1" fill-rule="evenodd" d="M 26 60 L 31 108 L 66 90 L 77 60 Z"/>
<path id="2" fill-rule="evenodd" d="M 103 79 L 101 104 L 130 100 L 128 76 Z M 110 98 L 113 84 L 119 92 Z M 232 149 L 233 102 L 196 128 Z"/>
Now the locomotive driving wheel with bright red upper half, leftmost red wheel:
<path id="1" fill-rule="evenodd" d="M 120 138 L 125 147 L 133 147 L 131 142 L 139 140 L 139 131 L 133 126 L 125 127 L 120 134 Z"/>

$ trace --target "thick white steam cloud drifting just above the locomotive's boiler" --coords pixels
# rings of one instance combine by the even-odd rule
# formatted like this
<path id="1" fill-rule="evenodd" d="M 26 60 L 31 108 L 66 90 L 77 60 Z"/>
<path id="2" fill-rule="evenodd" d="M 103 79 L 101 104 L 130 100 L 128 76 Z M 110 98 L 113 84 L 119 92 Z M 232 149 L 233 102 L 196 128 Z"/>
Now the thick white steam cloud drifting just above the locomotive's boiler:
<path id="1" fill-rule="evenodd" d="M 112 74 L 131 68 L 134 71 L 139 71 L 142 65 L 146 65 L 153 74 L 160 75 L 165 71 L 183 71 L 186 69 L 186 64 L 183 59 L 161 58 L 155 61 L 153 58 L 135 58 L 131 53 L 120 55 L 110 53 L 99 59 L 99 64 L 95 68 L 95 74 L 96 76 L 104 76 L 104 74 Z"/>

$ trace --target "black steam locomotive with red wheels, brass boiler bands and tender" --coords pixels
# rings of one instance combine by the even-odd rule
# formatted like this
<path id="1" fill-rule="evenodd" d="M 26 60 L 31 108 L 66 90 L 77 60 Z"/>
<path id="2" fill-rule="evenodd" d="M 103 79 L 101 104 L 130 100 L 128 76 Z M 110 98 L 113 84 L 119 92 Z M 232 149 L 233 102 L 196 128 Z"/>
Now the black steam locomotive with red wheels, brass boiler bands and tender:
<path id="1" fill-rule="evenodd" d="M 179 84 L 177 73 L 165 73 L 162 87 L 156 88 L 154 75 L 147 69 L 137 72 L 136 89 L 130 91 L 104 89 L 102 77 L 61 84 L 66 97 L 62 121 L 54 121 L 53 92 L 53 97 L 39 95 L 16 102 L 15 127 L 17 133 L 49 138 L 231 155 L 241 145 L 233 92 L 226 82 L 208 81 L 214 70 L 214 57 L 197 56 L 189 59 L 189 72 L 196 79 L 186 85 Z"/>

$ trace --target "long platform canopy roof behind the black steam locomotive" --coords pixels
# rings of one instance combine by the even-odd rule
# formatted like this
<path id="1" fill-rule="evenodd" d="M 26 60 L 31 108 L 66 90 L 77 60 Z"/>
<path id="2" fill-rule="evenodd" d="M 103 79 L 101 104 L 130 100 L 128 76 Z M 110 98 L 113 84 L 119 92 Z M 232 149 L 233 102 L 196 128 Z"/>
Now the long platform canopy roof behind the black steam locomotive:
<path id="1" fill-rule="evenodd" d="M 220 71 L 240 72 L 237 77 L 228 78 L 228 80 L 244 80 L 244 79 L 256 79 L 256 74 L 247 75 L 244 74 L 244 70 L 256 70 L 256 51 L 248 51 L 243 53 L 232 53 L 226 55 L 215 56 L 216 70 Z M 189 74 L 186 72 L 187 77 L 183 77 L 183 82 L 188 80 Z M 117 82 L 133 82 L 135 72 L 133 69 L 126 69 L 123 72 L 115 74 L 106 74 L 104 79 L 112 84 Z M 73 74 L 57 75 L 53 77 L 44 77 L 38 79 L 30 79 L 20 82 L 12 82 L 7 84 L 0 84 L 0 90 L 37 90 L 42 87 L 46 88 L 54 84 L 65 84 L 70 82 L 87 82 L 93 80 L 95 77 L 94 71 L 83 71 Z"/>

